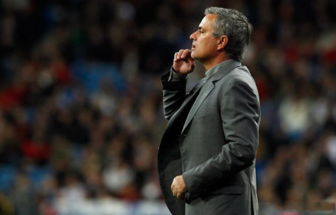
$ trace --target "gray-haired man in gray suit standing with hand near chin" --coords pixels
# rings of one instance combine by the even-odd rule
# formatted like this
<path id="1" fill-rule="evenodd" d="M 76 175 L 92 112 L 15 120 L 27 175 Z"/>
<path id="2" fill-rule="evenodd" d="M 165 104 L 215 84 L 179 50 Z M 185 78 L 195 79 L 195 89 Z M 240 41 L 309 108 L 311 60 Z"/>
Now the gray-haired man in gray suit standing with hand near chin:
<path id="1" fill-rule="evenodd" d="M 191 51 L 175 53 L 161 77 L 165 118 L 158 175 L 172 214 L 258 214 L 255 157 L 260 104 L 254 79 L 241 65 L 252 25 L 226 8 L 208 8 Z M 186 92 L 195 60 L 205 77 Z"/>

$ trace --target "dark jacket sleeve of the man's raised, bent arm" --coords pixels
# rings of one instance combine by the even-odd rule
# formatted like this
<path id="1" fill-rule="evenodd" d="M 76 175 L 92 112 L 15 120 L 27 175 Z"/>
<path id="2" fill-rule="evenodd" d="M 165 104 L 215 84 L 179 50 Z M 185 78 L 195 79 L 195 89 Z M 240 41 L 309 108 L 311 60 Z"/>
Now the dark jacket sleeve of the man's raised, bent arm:
<path id="1" fill-rule="evenodd" d="M 182 105 L 187 87 L 187 75 L 177 75 L 172 69 L 161 76 L 163 88 L 163 110 L 169 120 Z"/>

